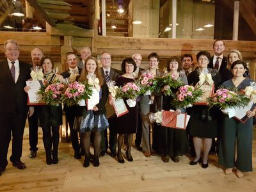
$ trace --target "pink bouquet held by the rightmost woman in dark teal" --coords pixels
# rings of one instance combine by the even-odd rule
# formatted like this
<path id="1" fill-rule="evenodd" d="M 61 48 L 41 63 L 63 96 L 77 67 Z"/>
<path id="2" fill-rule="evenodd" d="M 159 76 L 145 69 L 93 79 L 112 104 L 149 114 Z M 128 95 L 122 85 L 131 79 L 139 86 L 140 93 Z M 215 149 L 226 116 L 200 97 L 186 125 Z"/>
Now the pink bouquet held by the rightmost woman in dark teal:
<path id="1" fill-rule="evenodd" d="M 244 93 L 238 92 L 236 89 L 220 88 L 207 98 L 208 106 L 217 106 L 220 109 L 244 107 L 250 99 Z"/>

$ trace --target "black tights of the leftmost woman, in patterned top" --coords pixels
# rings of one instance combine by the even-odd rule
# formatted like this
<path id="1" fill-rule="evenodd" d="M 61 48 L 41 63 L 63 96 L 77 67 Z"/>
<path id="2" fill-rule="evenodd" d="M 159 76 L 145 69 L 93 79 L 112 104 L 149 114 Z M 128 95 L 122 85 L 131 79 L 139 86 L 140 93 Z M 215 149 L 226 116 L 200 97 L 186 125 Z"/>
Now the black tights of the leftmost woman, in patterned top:
<path id="1" fill-rule="evenodd" d="M 46 152 L 51 151 L 53 145 L 53 152 L 58 152 L 60 134 L 59 134 L 59 126 L 58 127 L 42 127 L 43 129 L 43 141 L 44 148 Z"/>

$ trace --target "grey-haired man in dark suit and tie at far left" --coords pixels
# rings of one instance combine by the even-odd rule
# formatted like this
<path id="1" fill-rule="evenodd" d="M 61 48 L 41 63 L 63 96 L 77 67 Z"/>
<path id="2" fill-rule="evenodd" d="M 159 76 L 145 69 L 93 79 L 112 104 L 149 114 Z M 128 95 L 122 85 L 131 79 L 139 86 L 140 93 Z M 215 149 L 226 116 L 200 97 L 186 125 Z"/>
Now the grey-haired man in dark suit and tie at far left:
<path id="1" fill-rule="evenodd" d="M 19 61 L 19 45 L 15 40 L 4 42 L 6 60 L 0 62 L 0 175 L 8 164 L 8 147 L 12 136 L 13 166 L 22 170 L 26 165 L 20 161 L 26 117 L 28 115 L 27 98 L 24 91 L 30 78 L 28 63 Z"/>

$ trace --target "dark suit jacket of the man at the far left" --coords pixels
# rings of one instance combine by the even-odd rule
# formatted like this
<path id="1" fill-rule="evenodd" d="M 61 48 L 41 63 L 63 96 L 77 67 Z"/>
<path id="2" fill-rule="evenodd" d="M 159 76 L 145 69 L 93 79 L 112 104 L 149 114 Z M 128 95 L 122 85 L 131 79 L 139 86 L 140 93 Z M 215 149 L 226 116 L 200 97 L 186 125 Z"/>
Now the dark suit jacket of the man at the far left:
<path id="1" fill-rule="evenodd" d="M 12 79 L 8 61 L 0 61 L 0 113 L 28 111 L 28 95 L 24 91 L 26 81 L 30 79 L 31 65 L 19 61 L 20 74 L 17 82 Z"/>

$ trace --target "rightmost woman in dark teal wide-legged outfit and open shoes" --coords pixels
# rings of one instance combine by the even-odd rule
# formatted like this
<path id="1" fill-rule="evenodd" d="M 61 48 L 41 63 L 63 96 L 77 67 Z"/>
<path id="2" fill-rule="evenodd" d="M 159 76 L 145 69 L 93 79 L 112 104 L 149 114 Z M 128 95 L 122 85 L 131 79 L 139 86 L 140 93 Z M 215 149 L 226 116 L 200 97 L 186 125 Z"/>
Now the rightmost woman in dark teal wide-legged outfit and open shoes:
<path id="1" fill-rule="evenodd" d="M 225 81 L 225 88 L 237 88 L 244 90 L 250 86 L 252 79 L 243 76 L 246 71 L 246 63 L 241 60 L 234 61 L 231 65 L 232 79 Z M 243 177 L 243 172 L 252 172 L 252 117 L 255 116 L 256 108 L 247 111 L 248 119 L 245 123 L 228 118 L 223 115 L 223 127 L 221 129 L 219 163 L 224 166 L 225 174 L 232 173 L 236 166 L 237 177 Z M 235 144 L 237 143 L 237 158 L 235 159 Z"/>

